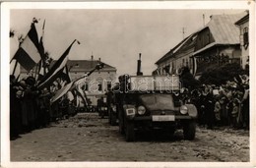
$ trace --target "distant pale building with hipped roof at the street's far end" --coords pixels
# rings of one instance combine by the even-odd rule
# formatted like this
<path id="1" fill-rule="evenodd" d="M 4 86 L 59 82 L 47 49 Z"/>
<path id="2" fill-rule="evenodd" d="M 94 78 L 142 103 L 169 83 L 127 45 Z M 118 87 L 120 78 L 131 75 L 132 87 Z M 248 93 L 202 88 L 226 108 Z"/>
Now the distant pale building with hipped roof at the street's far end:
<path id="1" fill-rule="evenodd" d="M 55 62 L 56 61 L 53 60 L 51 66 Z M 71 81 L 85 76 L 99 63 L 103 62 L 100 59 L 95 60 L 94 56 L 92 56 L 91 60 L 68 60 L 67 67 Z M 32 69 L 31 72 L 27 72 L 21 66 L 20 80 L 34 76 L 35 69 L 36 68 Z M 104 63 L 103 69 L 96 70 L 89 77 L 80 80 L 79 85 L 92 102 L 92 105 L 96 105 L 98 98 L 105 97 L 105 92 L 116 82 L 116 71 L 116 68 Z M 83 103 L 82 99 L 80 99 L 80 101 Z"/>

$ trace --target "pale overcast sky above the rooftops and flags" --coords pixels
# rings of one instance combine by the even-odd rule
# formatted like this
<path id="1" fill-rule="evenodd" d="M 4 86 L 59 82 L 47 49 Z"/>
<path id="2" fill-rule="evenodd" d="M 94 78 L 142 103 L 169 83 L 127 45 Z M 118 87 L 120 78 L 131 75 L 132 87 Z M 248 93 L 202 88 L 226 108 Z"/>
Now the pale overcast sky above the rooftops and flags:
<path id="1" fill-rule="evenodd" d="M 10 28 L 16 35 L 26 35 L 32 18 L 39 20 L 37 33 L 42 33 L 45 20 L 44 48 L 58 59 L 74 39 L 70 60 L 100 58 L 117 69 L 117 74 L 135 75 L 137 60 L 142 53 L 142 72 L 151 75 L 155 63 L 183 36 L 207 24 L 211 15 L 228 15 L 244 10 L 189 9 L 12 9 Z M 205 22 L 203 20 L 205 15 Z M 182 33 L 184 28 L 185 33 Z M 13 39 L 13 41 L 16 38 Z M 11 41 L 11 57 L 18 42 Z"/>

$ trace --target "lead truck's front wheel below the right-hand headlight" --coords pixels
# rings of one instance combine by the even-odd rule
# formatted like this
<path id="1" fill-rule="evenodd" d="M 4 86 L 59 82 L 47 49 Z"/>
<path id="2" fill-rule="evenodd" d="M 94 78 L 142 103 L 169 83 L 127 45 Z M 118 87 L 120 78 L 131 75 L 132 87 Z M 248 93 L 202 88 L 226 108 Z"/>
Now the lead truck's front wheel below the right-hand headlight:
<path id="1" fill-rule="evenodd" d="M 189 121 L 184 123 L 183 135 L 185 140 L 194 140 L 196 135 L 196 122 Z"/>

